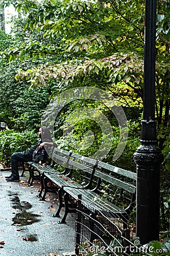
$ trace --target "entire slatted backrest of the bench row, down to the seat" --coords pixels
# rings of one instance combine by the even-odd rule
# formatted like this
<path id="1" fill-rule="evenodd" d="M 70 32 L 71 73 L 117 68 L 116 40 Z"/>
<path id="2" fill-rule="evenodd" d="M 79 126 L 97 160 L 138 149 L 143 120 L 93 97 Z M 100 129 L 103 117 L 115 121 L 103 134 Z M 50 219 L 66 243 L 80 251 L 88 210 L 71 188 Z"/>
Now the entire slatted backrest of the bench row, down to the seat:
<path id="1" fill-rule="evenodd" d="M 133 210 L 137 180 L 135 172 L 58 147 L 50 148 L 50 157 L 55 164 L 57 163 L 57 171 L 62 166 L 61 174 L 71 177 L 78 183 L 82 182 L 84 188 L 100 193 L 101 197 L 126 208 L 128 213 Z"/>

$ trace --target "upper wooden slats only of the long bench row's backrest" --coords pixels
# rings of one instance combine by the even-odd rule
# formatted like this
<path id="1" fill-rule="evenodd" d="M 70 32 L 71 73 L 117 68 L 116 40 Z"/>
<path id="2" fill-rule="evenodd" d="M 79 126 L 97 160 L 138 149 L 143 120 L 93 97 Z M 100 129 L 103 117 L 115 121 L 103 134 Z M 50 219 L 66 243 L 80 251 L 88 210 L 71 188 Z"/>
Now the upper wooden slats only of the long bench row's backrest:
<path id="1" fill-rule="evenodd" d="M 62 150 L 58 147 L 51 147 L 50 157 L 53 161 L 65 168 L 65 172 L 72 170 L 82 170 L 85 173 L 92 174 L 101 180 L 117 185 L 131 193 L 135 193 L 137 174 L 122 168 L 112 166 L 111 164 L 97 161 L 74 152 Z M 85 174 L 86 176 L 86 174 Z"/>

